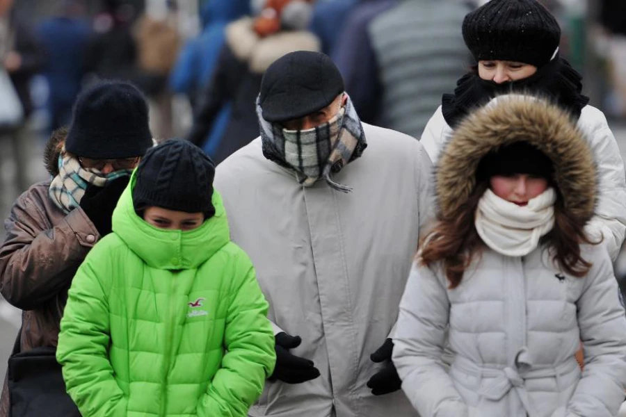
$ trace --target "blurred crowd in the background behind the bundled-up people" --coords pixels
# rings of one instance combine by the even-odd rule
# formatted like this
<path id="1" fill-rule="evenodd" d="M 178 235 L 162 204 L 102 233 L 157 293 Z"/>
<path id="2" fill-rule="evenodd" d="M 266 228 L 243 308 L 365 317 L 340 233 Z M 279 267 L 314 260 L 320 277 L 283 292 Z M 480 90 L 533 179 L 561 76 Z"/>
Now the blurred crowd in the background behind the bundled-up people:
<path id="1" fill-rule="evenodd" d="M 561 54 L 591 102 L 626 120 L 626 2 L 540 1 L 559 18 Z M 461 22 L 484 2 L 0 0 L 0 94 L 8 97 L 10 80 L 22 110 L 0 117 L 2 214 L 45 175 L 45 138 L 70 123 L 81 88 L 102 78 L 145 92 L 155 137 L 188 138 L 219 163 L 258 136 L 265 68 L 291 50 L 319 50 L 339 66 L 364 122 L 419 138 L 472 65 Z"/>

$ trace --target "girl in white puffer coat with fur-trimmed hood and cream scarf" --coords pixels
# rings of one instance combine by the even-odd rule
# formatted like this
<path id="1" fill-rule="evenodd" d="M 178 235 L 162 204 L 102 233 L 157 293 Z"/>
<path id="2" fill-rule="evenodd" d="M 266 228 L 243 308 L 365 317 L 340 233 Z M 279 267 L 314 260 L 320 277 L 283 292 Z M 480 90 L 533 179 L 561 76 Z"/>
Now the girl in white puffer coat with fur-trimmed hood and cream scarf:
<path id="1" fill-rule="evenodd" d="M 394 337 L 419 414 L 616 416 L 626 318 L 611 259 L 584 229 L 596 172 L 569 115 L 533 97 L 499 97 L 458 126 L 436 179 L 438 222 Z"/>

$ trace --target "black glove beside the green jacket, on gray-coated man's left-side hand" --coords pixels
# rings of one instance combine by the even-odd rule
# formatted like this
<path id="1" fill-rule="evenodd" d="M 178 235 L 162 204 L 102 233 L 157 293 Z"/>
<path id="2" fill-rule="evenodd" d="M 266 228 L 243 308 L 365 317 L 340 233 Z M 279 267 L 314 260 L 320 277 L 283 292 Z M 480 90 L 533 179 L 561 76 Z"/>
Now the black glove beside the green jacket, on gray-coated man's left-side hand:
<path id="1" fill-rule="evenodd" d="M 276 367 L 268 379 L 280 379 L 287 384 L 301 384 L 319 377 L 319 370 L 313 366 L 313 361 L 300 358 L 289 353 L 302 343 L 300 336 L 289 336 L 281 332 L 274 336 L 276 341 Z"/>

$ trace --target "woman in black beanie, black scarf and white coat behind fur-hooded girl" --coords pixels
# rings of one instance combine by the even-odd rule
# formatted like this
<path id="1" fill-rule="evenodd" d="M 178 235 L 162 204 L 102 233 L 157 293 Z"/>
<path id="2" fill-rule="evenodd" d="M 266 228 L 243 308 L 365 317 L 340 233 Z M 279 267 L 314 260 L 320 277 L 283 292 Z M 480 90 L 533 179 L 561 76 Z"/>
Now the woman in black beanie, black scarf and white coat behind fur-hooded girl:
<path id="1" fill-rule="evenodd" d="M 559 54 L 561 28 L 538 0 L 490 0 L 463 21 L 463 39 L 476 67 L 443 96 L 422 133 L 436 165 L 444 143 L 472 109 L 508 92 L 546 97 L 567 111 L 588 142 L 598 169 L 595 216 L 587 231 L 604 237 L 611 259 L 626 235 L 626 173 L 602 111 L 581 94 L 581 76 Z"/>

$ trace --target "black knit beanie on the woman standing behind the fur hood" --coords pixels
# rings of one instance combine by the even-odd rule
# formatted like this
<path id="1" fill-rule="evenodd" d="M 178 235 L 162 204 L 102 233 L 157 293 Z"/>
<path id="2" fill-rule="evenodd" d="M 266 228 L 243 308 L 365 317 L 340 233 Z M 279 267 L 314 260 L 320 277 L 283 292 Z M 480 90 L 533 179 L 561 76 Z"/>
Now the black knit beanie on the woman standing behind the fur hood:
<path id="1" fill-rule="evenodd" d="M 490 0 L 465 16 L 463 39 L 476 62 L 543 67 L 559 47 L 561 28 L 538 0 Z"/>

